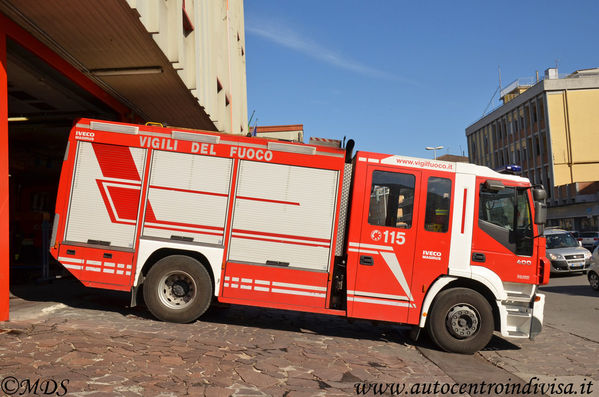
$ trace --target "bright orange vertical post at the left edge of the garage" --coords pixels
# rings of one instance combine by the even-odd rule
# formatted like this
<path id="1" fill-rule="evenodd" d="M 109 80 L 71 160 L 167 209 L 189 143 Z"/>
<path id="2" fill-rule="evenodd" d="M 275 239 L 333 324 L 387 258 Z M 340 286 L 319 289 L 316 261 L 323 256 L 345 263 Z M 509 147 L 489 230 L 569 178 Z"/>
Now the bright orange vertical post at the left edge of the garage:
<path id="1" fill-rule="evenodd" d="M 0 26 L 0 321 L 8 320 L 8 78 L 6 32 Z"/>

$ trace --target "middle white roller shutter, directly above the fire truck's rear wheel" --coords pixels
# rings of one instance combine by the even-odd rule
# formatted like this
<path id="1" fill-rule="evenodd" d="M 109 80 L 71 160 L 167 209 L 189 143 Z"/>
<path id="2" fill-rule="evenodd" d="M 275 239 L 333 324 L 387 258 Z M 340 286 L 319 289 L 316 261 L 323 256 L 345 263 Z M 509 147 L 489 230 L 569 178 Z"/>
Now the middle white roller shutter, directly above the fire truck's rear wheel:
<path id="1" fill-rule="evenodd" d="M 154 151 L 143 236 L 223 244 L 232 160 Z"/>

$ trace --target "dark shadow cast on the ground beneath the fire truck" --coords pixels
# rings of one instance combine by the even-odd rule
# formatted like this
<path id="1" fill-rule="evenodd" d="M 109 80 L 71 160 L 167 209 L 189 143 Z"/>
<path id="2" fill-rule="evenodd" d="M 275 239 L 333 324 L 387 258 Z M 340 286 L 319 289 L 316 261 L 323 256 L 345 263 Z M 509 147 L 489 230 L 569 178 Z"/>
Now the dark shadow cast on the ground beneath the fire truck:
<path id="1" fill-rule="evenodd" d="M 590 289 L 590 287 L 589 287 Z M 85 287 L 72 277 L 47 282 L 11 285 L 11 293 L 28 302 L 56 302 L 71 308 L 107 311 L 122 316 L 155 320 L 143 304 L 130 308 L 128 292 Z M 414 343 L 409 338 L 411 327 L 369 320 L 346 319 L 325 314 L 305 313 L 240 305 L 217 305 L 202 316 L 199 322 L 265 330 L 279 330 L 352 339 L 380 340 L 439 350 L 422 331 Z M 493 336 L 483 350 L 519 350 L 505 339 Z M 448 353 L 449 354 L 449 353 Z"/>

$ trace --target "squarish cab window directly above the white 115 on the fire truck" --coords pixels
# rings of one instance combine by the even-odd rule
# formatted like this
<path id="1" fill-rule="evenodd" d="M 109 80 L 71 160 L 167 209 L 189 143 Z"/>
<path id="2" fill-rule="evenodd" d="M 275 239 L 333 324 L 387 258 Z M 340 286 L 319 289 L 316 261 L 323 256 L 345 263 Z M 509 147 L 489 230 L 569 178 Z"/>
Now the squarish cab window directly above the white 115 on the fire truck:
<path id="1" fill-rule="evenodd" d="M 370 189 L 368 223 L 408 229 L 414 209 L 414 175 L 374 171 Z"/>

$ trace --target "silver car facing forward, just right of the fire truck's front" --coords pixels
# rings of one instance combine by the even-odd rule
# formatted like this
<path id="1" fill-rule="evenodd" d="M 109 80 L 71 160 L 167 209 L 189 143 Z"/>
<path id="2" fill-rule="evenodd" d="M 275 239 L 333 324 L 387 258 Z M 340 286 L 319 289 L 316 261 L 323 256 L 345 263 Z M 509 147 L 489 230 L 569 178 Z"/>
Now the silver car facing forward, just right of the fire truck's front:
<path id="1" fill-rule="evenodd" d="M 591 252 L 581 247 L 572 233 L 561 229 L 547 229 L 545 238 L 551 273 L 584 272 L 590 267 Z"/>

